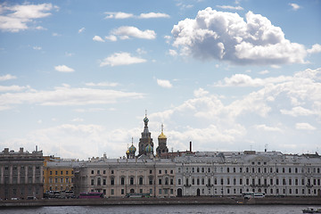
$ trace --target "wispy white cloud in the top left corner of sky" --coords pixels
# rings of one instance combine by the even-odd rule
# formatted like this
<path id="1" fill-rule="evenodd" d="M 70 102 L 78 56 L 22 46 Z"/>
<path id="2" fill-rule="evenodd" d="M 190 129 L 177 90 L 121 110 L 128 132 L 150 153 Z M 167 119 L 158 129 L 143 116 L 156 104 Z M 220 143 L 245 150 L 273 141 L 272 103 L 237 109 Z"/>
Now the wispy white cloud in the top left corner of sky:
<path id="1" fill-rule="evenodd" d="M 53 4 L 15 4 L 7 6 L 0 4 L 0 29 L 10 32 L 19 32 L 29 29 L 28 23 L 35 23 L 37 19 L 51 15 L 50 11 L 58 9 Z M 35 29 L 44 29 L 41 26 Z"/>

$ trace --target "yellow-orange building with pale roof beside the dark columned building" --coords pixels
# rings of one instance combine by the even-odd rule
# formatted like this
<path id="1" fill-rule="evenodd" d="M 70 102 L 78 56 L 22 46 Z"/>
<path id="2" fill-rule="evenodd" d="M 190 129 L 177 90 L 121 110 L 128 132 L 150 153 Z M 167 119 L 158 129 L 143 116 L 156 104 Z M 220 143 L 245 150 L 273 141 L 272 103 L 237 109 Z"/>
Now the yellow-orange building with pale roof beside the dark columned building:
<path id="1" fill-rule="evenodd" d="M 76 160 L 62 160 L 54 156 L 45 156 L 44 193 L 49 191 L 72 191 Z"/>

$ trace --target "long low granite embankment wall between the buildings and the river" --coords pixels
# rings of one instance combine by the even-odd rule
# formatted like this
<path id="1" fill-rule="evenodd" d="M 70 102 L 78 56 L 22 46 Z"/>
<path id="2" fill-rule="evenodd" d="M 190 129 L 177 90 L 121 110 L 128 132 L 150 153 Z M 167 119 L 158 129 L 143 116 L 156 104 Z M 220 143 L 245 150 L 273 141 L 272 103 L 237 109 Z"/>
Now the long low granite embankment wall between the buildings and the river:
<path id="1" fill-rule="evenodd" d="M 40 206 L 102 206 L 102 205 L 176 205 L 176 204 L 282 204 L 282 205 L 321 205 L 321 197 L 284 197 L 243 200 L 225 197 L 182 197 L 182 198 L 109 198 L 109 199 L 46 199 L 1 201 L 1 207 L 40 207 Z"/>

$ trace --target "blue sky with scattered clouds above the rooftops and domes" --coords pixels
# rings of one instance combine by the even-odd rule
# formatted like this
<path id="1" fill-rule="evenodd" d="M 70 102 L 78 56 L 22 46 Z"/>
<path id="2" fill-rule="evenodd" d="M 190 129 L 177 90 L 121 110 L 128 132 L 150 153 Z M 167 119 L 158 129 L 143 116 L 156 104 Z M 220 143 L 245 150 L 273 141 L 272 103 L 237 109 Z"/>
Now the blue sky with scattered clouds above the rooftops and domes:
<path id="1" fill-rule="evenodd" d="M 119 158 L 145 111 L 169 151 L 321 152 L 321 1 L 0 1 L 1 151 Z"/>

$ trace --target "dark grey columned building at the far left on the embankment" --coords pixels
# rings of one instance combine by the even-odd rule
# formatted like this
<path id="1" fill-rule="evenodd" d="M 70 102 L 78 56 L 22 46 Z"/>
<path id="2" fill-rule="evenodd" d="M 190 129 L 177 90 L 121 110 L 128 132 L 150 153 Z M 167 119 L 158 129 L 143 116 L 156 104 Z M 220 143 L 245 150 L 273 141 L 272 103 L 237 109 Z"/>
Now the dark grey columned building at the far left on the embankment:
<path id="1" fill-rule="evenodd" d="M 0 198 L 27 199 L 43 196 L 43 152 L 0 152 Z"/>

